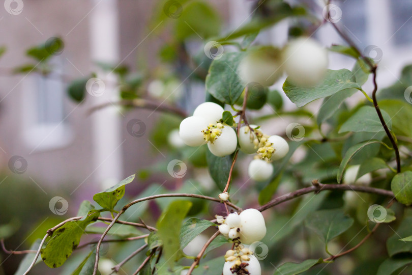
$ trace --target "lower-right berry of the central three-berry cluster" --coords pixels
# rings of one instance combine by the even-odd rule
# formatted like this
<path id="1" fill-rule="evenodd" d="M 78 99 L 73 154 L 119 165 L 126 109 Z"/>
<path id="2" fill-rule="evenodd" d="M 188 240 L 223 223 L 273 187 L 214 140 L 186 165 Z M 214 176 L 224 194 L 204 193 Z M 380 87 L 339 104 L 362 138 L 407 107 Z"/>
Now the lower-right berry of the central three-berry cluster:
<path id="1" fill-rule="evenodd" d="M 219 157 L 230 155 L 238 145 L 236 132 L 230 126 L 224 126 L 221 131 L 222 133 L 213 143 L 208 143 L 212 154 Z"/>

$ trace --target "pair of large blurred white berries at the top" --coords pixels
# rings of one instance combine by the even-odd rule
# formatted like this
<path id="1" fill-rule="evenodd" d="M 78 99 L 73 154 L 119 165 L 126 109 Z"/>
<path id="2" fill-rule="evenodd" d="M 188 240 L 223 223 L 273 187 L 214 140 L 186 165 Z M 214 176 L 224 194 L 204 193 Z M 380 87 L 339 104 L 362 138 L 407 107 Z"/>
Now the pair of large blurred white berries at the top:
<path id="1" fill-rule="evenodd" d="M 273 85 L 285 71 L 289 78 L 303 87 L 320 82 L 328 68 L 328 52 L 314 39 L 301 37 L 283 49 L 259 46 L 249 50 L 239 65 L 239 75 L 248 84 Z"/>

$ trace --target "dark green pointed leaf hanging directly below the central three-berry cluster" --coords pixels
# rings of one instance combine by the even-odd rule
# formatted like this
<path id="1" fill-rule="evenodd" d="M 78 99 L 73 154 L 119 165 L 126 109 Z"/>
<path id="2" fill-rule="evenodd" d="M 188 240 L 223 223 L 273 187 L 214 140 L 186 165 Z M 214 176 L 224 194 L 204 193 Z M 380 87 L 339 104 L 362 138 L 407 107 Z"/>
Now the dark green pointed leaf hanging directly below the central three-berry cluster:
<path id="1" fill-rule="evenodd" d="M 209 172 L 212 179 L 215 181 L 219 190 L 223 190 L 229 178 L 230 166 L 232 165 L 232 156 L 218 157 L 212 154 L 209 150 L 206 153 Z"/>

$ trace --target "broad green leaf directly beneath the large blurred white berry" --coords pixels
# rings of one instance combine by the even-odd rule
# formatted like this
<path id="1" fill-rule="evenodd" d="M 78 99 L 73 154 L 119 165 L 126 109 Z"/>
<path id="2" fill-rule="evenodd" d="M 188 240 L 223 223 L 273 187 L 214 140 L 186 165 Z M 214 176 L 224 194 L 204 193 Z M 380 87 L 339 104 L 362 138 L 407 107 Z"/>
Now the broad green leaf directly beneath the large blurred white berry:
<path id="1" fill-rule="evenodd" d="M 298 107 L 305 106 L 309 102 L 322 97 L 331 96 L 339 91 L 356 88 L 361 89 L 357 84 L 355 76 L 347 69 L 328 70 L 325 79 L 312 88 L 299 87 L 290 81 L 289 77 L 283 84 L 283 91 L 287 97 Z"/>

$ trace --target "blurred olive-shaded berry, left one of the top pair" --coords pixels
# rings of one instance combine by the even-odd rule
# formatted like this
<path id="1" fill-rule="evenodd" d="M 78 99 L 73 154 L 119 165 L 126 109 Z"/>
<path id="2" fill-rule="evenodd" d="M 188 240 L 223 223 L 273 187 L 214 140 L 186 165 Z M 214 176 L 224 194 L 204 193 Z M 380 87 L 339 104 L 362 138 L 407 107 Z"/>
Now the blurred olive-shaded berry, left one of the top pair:
<path id="1" fill-rule="evenodd" d="M 278 80 L 283 70 L 280 66 L 279 50 L 273 47 L 262 47 L 251 50 L 239 64 L 239 75 L 245 84 L 257 82 L 263 86 L 271 86 Z"/>

